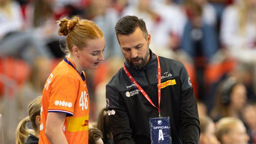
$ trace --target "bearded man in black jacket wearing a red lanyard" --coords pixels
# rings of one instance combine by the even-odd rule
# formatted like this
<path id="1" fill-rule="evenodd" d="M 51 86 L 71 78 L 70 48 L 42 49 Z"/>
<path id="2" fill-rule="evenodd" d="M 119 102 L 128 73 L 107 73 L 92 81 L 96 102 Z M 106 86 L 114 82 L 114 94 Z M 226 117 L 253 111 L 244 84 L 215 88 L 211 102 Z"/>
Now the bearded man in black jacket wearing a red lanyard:
<path id="1" fill-rule="evenodd" d="M 198 144 L 198 110 L 184 65 L 149 49 L 151 36 L 136 16 L 120 18 L 115 31 L 126 58 L 106 85 L 115 144 Z"/>

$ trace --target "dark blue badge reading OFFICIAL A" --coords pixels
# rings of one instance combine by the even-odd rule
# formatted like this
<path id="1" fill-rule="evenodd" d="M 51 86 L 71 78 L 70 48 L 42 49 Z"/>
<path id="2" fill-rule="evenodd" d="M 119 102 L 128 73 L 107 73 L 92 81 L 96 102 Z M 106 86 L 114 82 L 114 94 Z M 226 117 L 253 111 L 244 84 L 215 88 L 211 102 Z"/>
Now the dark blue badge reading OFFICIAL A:
<path id="1" fill-rule="evenodd" d="M 151 144 L 172 144 L 170 117 L 149 118 Z"/>

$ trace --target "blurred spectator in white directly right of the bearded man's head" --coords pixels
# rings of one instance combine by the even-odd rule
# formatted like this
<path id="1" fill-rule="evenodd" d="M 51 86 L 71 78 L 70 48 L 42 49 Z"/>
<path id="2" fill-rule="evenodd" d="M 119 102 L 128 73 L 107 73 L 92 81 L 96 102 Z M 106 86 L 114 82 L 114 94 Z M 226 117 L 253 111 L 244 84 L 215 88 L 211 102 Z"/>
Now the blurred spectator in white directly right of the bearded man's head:
<path id="1" fill-rule="evenodd" d="M 157 27 L 154 27 L 152 37 L 152 43 L 157 45 L 155 50 L 157 52 L 163 51 L 163 48 L 167 47 L 175 51 L 180 46 L 180 39 L 186 22 L 185 14 L 173 0 L 155 1 L 153 4 L 156 13 L 160 17 Z"/>

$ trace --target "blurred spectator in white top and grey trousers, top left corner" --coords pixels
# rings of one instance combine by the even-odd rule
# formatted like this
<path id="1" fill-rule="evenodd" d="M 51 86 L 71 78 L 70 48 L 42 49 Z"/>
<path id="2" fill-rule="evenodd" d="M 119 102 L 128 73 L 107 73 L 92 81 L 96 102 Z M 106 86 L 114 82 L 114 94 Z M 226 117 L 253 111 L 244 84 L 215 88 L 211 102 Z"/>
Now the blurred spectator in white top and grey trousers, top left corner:
<path id="1" fill-rule="evenodd" d="M 35 33 L 22 31 L 20 6 L 12 0 L 0 0 L 0 57 L 21 57 L 33 63 L 37 57 L 51 58 L 46 45 Z"/>

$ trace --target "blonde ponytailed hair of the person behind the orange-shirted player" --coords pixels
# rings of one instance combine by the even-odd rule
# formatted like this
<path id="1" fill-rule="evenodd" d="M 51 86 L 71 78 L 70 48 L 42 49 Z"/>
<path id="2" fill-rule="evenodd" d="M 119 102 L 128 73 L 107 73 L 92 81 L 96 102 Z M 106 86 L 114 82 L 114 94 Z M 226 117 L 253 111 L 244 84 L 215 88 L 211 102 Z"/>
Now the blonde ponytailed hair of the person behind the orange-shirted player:
<path id="1" fill-rule="evenodd" d="M 34 135 L 34 130 L 38 130 L 39 127 L 37 126 L 36 117 L 40 116 L 41 102 L 42 96 L 39 96 L 29 103 L 27 108 L 28 116 L 19 122 L 16 129 L 16 144 L 25 144 L 28 135 Z M 32 123 L 34 130 L 27 128 L 26 124 L 29 121 Z"/>

